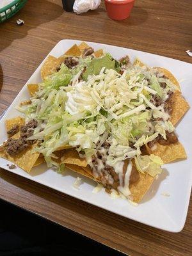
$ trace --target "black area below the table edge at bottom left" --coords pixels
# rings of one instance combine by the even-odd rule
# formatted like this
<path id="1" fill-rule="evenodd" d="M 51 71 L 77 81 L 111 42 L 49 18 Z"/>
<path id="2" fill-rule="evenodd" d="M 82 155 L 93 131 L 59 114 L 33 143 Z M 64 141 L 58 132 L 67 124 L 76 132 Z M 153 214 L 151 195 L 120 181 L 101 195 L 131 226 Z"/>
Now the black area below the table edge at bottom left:
<path id="1" fill-rule="evenodd" d="M 124 256 L 1 199 L 0 209 L 1 256 Z"/>

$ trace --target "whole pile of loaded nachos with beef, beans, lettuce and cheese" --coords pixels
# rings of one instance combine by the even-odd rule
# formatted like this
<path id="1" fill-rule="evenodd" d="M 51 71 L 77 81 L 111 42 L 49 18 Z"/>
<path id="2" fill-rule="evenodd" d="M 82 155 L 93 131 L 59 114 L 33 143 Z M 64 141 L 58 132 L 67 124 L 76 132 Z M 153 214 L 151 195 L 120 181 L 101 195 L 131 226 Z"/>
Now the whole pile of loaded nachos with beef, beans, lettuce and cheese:
<path id="1" fill-rule="evenodd" d="M 23 117 L 6 120 L 0 147 L 26 172 L 67 167 L 140 202 L 164 163 L 187 157 L 175 125 L 189 105 L 168 70 L 82 42 L 48 56 L 41 75 L 17 107 Z"/>

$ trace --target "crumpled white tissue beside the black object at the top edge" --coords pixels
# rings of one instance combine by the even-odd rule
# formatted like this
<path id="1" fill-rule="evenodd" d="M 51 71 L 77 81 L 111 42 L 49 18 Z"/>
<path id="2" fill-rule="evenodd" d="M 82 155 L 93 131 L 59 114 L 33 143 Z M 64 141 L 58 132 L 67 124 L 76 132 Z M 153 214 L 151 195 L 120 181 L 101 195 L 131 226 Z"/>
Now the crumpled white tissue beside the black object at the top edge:
<path id="1" fill-rule="evenodd" d="M 74 12 L 77 14 L 95 10 L 100 5 L 101 0 L 76 0 L 74 3 Z"/>

